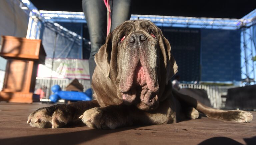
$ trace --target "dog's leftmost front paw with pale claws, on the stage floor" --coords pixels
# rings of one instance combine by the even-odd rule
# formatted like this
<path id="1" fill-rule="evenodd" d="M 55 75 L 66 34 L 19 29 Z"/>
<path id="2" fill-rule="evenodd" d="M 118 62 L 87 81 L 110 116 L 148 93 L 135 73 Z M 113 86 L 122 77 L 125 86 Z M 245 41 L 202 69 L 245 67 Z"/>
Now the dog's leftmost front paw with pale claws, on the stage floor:
<path id="1" fill-rule="evenodd" d="M 74 110 L 66 104 L 39 108 L 30 113 L 27 123 L 37 128 L 60 128 L 72 120 Z"/>

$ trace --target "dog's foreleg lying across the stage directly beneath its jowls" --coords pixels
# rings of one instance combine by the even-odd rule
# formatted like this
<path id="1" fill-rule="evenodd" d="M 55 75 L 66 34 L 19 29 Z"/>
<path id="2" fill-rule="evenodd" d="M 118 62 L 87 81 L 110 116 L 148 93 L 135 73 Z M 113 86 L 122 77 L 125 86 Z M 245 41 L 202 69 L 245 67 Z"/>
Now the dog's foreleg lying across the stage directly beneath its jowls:
<path id="1" fill-rule="evenodd" d="M 167 124 L 176 122 L 176 113 L 168 101 L 152 111 L 142 111 L 135 106 L 110 105 L 86 110 L 79 118 L 91 128 L 115 129 L 131 125 Z"/>

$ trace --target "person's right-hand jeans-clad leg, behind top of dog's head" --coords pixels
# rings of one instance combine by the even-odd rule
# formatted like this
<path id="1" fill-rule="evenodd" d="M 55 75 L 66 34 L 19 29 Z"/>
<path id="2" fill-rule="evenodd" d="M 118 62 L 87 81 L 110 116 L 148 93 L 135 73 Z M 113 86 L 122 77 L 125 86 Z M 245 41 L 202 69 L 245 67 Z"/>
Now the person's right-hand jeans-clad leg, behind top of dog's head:
<path id="1" fill-rule="evenodd" d="M 131 17 L 131 0 L 113 0 L 111 16 L 111 32 L 124 21 Z"/>

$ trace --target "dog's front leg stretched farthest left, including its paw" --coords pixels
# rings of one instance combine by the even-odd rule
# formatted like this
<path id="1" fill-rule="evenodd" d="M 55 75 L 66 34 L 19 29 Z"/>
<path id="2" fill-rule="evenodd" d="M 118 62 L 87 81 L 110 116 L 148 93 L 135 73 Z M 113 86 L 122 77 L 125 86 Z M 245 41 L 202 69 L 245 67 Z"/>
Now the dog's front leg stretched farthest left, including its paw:
<path id="1" fill-rule="evenodd" d="M 78 117 L 93 107 L 99 107 L 96 100 L 43 107 L 30 113 L 27 123 L 37 128 L 60 128 L 67 123 L 80 121 Z"/>

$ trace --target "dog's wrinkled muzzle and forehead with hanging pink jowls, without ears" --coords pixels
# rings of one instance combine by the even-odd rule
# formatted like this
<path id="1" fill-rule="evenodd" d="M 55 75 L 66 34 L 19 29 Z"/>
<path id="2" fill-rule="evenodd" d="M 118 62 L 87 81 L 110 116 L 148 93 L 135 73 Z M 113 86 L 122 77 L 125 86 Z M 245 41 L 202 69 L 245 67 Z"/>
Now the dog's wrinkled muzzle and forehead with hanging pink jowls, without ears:
<path id="1" fill-rule="evenodd" d="M 119 31 L 119 32 L 118 32 Z M 159 34 L 149 21 L 123 23 L 118 37 L 119 90 L 125 104 L 138 100 L 151 108 L 158 106 L 159 82 L 157 65 Z M 125 57 L 123 57 L 125 56 Z"/>

